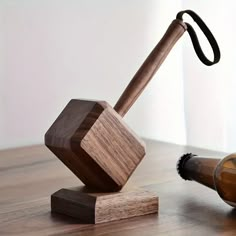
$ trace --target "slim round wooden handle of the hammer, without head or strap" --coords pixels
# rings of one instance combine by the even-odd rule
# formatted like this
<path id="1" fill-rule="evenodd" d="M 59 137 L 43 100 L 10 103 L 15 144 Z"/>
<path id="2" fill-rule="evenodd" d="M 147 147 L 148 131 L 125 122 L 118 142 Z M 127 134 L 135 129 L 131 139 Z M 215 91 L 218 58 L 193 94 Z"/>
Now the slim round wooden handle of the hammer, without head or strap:
<path id="1" fill-rule="evenodd" d="M 121 116 L 126 114 L 186 29 L 187 26 L 182 20 L 176 19 L 170 24 L 116 103 L 114 109 L 117 113 Z"/>

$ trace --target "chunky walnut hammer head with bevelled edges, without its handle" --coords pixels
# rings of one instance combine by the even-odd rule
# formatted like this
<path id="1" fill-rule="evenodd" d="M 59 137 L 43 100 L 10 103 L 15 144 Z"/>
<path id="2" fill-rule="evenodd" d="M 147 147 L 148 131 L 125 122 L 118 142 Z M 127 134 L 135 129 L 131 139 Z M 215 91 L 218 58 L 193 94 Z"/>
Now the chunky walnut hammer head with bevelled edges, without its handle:
<path id="1" fill-rule="evenodd" d="M 71 100 L 45 134 L 46 146 L 86 185 L 121 189 L 144 143 L 106 102 Z"/>

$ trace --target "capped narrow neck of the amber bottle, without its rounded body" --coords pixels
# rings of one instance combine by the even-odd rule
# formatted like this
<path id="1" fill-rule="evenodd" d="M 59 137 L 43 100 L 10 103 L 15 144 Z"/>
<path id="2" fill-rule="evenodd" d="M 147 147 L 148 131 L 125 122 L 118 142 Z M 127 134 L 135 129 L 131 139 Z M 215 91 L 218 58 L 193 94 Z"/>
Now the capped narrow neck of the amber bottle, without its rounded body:
<path id="1" fill-rule="evenodd" d="M 181 157 L 178 163 L 178 171 L 186 180 L 194 180 L 215 190 L 214 171 L 220 159 L 206 158 L 193 154 Z"/>

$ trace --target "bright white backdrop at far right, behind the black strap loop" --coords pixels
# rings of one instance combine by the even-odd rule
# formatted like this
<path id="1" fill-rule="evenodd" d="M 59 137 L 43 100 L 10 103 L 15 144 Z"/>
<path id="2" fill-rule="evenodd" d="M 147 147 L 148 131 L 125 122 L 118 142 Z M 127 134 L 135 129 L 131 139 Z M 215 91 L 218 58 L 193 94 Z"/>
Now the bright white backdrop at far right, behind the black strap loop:
<path id="1" fill-rule="evenodd" d="M 183 3 L 183 8 L 199 12 L 215 35 L 221 49 L 220 62 L 212 67 L 206 67 L 194 55 L 190 40 L 184 42 L 187 143 L 192 146 L 235 152 L 235 2 L 189 0 Z M 201 38 L 201 42 L 208 56 L 212 56 L 204 38 Z"/>

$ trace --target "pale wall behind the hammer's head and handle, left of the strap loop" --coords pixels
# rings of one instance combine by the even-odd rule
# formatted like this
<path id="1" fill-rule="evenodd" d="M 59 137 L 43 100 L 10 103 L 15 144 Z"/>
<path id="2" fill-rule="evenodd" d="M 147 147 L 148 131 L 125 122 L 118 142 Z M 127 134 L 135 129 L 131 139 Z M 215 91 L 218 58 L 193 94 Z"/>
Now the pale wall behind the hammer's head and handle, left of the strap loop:
<path id="1" fill-rule="evenodd" d="M 1 0 L 0 148 L 42 143 L 71 98 L 114 105 L 181 2 Z M 126 116 L 138 134 L 185 143 L 182 78 L 179 43 Z"/>

